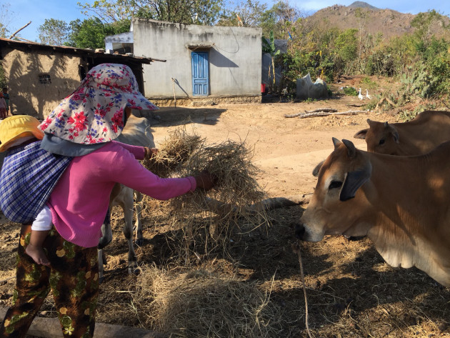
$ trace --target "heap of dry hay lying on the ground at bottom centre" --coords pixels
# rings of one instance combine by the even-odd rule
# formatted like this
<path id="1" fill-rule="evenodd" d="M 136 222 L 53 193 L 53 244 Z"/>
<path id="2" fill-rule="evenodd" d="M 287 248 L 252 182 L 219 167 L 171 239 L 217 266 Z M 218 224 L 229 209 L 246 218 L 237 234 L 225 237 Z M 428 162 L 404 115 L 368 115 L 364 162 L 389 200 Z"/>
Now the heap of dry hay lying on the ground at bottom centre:
<path id="1" fill-rule="evenodd" d="M 144 327 L 171 337 L 280 337 L 281 310 L 256 282 L 144 267 L 133 303 Z"/>

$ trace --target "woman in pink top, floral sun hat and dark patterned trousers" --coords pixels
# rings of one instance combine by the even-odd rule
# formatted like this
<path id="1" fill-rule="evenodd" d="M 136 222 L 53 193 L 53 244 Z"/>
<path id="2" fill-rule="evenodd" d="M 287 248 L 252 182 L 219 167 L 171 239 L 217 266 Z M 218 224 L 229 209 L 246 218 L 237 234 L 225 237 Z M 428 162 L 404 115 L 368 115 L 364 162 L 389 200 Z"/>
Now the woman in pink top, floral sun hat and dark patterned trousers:
<path id="1" fill-rule="evenodd" d="M 139 93 L 128 66 L 100 64 L 40 125 L 45 133 L 41 148 L 73 159 L 47 202 L 54 224 L 44 242 L 50 267 L 26 255 L 31 226 L 21 227 L 17 296 L 0 326 L 0 337 L 24 337 L 50 289 L 64 337 L 93 337 L 99 292 L 97 244 L 114 184 L 155 199 L 213 187 L 214 177 L 206 172 L 161 179 L 136 161 L 151 155 L 149 148 L 112 141 L 131 109 L 157 107 Z"/>

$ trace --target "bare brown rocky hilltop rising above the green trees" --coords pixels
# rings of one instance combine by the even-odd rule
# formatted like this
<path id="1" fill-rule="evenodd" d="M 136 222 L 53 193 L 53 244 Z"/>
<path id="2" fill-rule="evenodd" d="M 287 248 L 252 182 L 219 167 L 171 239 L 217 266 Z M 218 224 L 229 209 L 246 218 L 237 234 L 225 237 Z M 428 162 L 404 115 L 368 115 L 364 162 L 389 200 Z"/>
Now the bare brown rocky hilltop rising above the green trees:
<path id="1" fill-rule="evenodd" d="M 411 21 L 413 14 L 404 14 L 392 9 L 379 9 L 364 1 L 356 1 L 350 6 L 334 5 L 329 6 L 306 18 L 309 24 L 319 24 L 326 28 L 337 27 L 341 30 L 355 28 L 369 33 L 373 36 L 383 34 L 386 39 L 392 36 L 399 36 L 405 33 L 412 33 L 414 27 Z M 444 17 L 444 24 L 448 25 L 450 19 Z M 431 34 L 444 36 L 449 31 L 444 29 L 444 24 L 434 24 L 431 26 Z"/>

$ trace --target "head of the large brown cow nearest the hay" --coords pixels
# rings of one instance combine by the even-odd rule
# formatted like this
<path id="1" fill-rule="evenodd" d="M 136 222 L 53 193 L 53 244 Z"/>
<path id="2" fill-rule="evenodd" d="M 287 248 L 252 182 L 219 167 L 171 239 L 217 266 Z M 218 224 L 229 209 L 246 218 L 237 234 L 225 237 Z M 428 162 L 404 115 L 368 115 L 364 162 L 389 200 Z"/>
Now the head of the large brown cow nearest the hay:
<path id="1" fill-rule="evenodd" d="M 363 236 L 367 230 L 357 221 L 368 204 L 360 188 L 371 177 L 371 162 L 351 141 L 333 142 L 334 151 L 319 169 L 313 197 L 296 228 L 297 237 L 309 242 L 326 234 Z"/>

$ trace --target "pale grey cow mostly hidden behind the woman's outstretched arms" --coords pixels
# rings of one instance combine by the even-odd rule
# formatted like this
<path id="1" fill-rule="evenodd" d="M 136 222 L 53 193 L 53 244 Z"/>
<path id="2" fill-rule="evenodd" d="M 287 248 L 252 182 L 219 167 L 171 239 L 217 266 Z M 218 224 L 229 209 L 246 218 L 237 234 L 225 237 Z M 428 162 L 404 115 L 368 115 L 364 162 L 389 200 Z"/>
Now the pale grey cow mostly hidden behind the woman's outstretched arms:
<path id="1" fill-rule="evenodd" d="M 128 121 L 116 141 L 131 144 L 133 146 L 148 146 L 154 148 L 153 135 L 151 134 L 150 121 L 146 117 L 129 116 Z M 136 204 L 134 203 L 136 196 Z M 128 271 L 134 272 L 137 265 L 136 252 L 133 247 L 133 213 L 136 207 L 136 244 L 142 244 L 142 224 L 141 224 L 141 205 L 142 200 L 140 192 L 134 192 L 133 189 L 125 187 L 123 184 L 116 184 L 109 200 L 109 210 L 115 205 L 119 205 L 124 212 L 124 236 L 128 243 Z M 99 240 L 99 278 L 103 279 L 104 255 L 103 248 L 112 240 L 112 229 L 109 217 L 106 217 L 101 226 L 102 237 Z"/>

